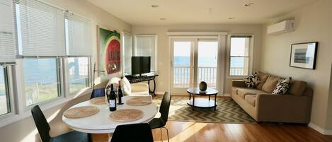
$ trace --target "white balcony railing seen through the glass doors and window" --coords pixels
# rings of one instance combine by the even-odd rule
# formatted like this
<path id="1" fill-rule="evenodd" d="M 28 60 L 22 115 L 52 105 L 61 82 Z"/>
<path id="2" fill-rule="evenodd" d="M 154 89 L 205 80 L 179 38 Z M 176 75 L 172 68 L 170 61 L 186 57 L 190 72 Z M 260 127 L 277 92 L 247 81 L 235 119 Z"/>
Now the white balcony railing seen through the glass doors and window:
<path id="1" fill-rule="evenodd" d="M 244 68 L 231 68 L 232 76 L 243 76 Z M 189 88 L 193 78 L 190 78 L 190 67 L 174 66 L 173 69 L 173 87 Z M 198 83 L 205 81 L 210 88 L 216 88 L 217 85 L 217 67 L 198 67 Z"/>

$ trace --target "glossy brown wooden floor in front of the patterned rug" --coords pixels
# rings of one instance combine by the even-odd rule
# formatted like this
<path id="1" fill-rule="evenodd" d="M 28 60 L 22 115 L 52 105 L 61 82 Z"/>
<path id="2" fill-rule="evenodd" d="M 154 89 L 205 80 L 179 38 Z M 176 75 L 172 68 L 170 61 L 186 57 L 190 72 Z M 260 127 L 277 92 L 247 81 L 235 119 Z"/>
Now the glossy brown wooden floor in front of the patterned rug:
<path id="1" fill-rule="evenodd" d="M 190 142 L 237 142 L 237 141 L 331 141 L 332 136 L 324 136 L 307 125 L 300 124 L 212 124 L 195 122 L 168 122 L 170 141 Z M 162 130 L 167 141 L 166 130 Z M 160 129 L 154 129 L 154 141 L 161 141 Z M 107 134 L 93 134 L 93 141 L 108 141 Z"/>

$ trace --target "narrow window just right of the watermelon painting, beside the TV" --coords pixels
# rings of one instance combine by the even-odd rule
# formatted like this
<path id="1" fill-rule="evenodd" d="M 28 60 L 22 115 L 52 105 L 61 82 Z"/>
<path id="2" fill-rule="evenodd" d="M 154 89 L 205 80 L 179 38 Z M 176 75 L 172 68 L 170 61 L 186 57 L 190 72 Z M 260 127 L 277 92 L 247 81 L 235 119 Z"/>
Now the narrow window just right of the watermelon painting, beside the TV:
<path id="1" fill-rule="evenodd" d="M 124 47 L 124 52 L 123 52 L 123 65 L 124 70 L 123 74 L 124 75 L 130 75 L 132 74 L 132 35 L 123 33 L 123 46 Z"/>

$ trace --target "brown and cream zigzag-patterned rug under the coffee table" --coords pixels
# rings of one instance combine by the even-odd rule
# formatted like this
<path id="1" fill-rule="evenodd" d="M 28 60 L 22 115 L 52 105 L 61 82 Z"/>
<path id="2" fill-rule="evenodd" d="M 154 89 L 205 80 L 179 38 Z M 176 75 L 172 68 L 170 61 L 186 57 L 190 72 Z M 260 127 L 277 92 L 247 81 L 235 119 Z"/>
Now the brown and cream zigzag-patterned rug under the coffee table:
<path id="1" fill-rule="evenodd" d="M 154 97 L 157 106 L 161 104 L 161 95 Z M 214 98 L 213 98 L 214 99 Z M 198 108 L 187 105 L 188 97 L 171 97 L 171 107 L 168 114 L 168 121 L 174 122 L 207 122 L 224 124 L 257 124 L 257 122 L 247 114 L 231 98 L 217 98 L 217 110 L 214 108 Z M 156 116 L 159 117 L 159 116 Z"/>

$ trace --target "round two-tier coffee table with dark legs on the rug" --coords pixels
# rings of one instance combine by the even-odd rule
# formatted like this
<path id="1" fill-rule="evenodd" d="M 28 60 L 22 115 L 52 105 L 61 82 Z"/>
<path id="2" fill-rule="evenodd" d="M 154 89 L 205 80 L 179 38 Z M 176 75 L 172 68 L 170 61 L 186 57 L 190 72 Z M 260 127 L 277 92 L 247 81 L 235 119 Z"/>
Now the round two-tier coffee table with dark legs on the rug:
<path id="1" fill-rule="evenodd" d="M 217 94 L 219 93 L 217 90 L 212 88 L 207 88 L 205 91 L 200 91 L 200 88 L 188 88 L 187 92 L 189 93 L 189 100 L 187 102 L 188 105 L 193 106 L 193 111 L 195 107 L 201 108 L 212 108 L 214 107 L 214 111 L 217 108 Z M 191 99 L 191 95 L 193 95 L 193 99 Z M 207 98 L 196 98 L 195 95 L 201 96 L 209 96 Z M 214 100 L 211 100 L 211 95 L 214 95 Z"/>

